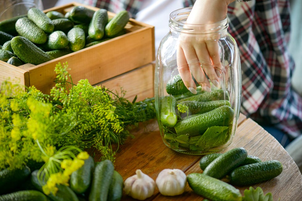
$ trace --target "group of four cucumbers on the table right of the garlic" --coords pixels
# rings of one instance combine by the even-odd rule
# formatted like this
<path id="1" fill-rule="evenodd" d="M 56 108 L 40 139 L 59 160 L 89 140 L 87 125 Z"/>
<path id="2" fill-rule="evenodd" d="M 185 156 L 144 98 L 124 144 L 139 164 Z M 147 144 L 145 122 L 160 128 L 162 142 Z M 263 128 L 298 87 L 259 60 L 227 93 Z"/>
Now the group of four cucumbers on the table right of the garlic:
<path id="1" fill-rule="evenodd" d="M 268 181 L 283 171 L 280 161 L 261 161 L 257 156 L 247 155 L 242 147 L 223 154 L 208 154 L 202 157 L 199 166 L 203 172 L 188 174 L 187 181 L 196 194 L 213 201 L 240 201 L 242 195 L 235 186 Z"/>

